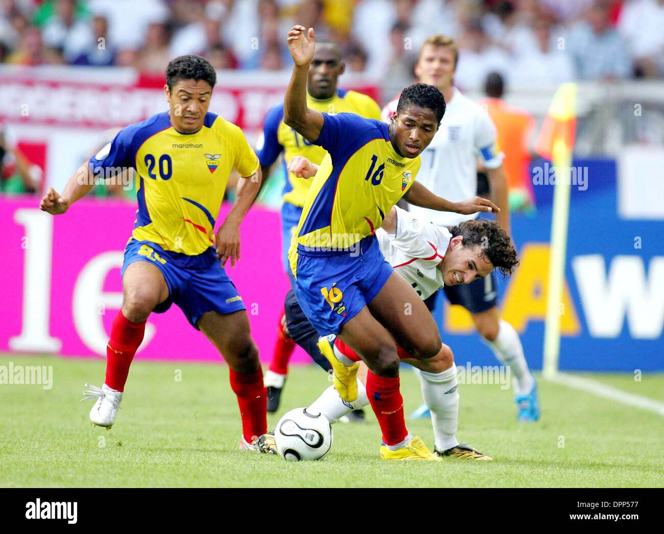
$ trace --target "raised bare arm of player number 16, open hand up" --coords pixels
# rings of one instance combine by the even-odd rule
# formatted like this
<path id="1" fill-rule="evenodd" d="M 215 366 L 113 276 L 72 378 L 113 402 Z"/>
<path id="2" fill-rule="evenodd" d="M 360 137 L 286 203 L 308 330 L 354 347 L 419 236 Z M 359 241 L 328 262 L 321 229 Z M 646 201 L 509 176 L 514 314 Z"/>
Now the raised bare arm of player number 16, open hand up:
<path id="1" fill-rule="evenodd" d="M 295 65 L 284 99 L 284 122 L 307 141 L 315 141 L 323 128 L 323 113 L 307 107 L 307 74 L 313 60 L 313 28 L 295 25 L 288 32 L 288 49 Z"/>

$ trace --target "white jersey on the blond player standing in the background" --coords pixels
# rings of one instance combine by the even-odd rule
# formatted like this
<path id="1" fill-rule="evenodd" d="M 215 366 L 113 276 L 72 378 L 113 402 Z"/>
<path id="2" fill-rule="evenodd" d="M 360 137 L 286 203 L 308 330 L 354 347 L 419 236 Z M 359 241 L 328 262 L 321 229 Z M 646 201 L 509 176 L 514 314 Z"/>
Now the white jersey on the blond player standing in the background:
<path id="1" fill-rule="evenodd" d="M 398 101 L 396 98 L 383 108 L 384 121 L 391 119 Z M 417 181 L 452 202 L 471 198 L 477 194 L 477 157 L 487 168 L 503 165 L 503 154 L 496 153 L 495 143 L 496 129 L 486 109 L 452 88 L 440 129 L 420 156 L 422 166 Z M 437 212 L 418 206 L 411 206 L 410 210 L 425 214 L 438 226 L 459 224 L 479 215 Z"/>

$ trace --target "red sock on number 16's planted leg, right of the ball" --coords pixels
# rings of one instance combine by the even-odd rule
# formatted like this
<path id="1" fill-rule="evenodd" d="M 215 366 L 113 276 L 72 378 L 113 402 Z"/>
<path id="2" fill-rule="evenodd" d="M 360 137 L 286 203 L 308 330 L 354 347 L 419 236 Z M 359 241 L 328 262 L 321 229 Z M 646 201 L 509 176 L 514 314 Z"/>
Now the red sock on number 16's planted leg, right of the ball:
<path id="1" fill-rule="evenodd" d="M 367 397 L 373 408 L 382 441 L 386 445 L 396 445 L 406 439 L 406 421 L 404 421 L 404 399 L 399 391 L 399 377 L 385 378 L 367 374 Z"/>

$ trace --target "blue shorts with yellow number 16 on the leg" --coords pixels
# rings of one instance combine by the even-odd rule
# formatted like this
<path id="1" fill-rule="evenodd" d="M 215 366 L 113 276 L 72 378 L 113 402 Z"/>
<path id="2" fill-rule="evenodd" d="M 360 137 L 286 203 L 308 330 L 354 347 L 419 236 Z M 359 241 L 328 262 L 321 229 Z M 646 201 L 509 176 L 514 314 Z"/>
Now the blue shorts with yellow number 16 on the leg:
<path id="1" fill-rule="evenodd" d="M 297 247 L 297 278 L 290 273 L 295 297 L 321 336 L 339 334 L 341 326 L 374 299 L 392 275 L 392 266 L 375 235 L 355 251 L 310 251 Z"/>

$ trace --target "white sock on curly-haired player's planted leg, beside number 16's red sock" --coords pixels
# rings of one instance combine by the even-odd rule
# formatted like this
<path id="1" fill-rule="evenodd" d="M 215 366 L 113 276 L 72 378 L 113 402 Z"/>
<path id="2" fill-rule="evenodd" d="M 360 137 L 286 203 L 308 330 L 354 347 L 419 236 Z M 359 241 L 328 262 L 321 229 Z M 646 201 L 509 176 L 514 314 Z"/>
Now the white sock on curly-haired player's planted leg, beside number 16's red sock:
<path id="1" fill-rule="evenodd" d="M 424 404 L 431 410 L 436 448 L 443 452 L 459 444 L 456 438 L 459 423 L 456 365 L 452 364 L 450 369 L 442 373 L 420 371 L 420 382 Z"/>

